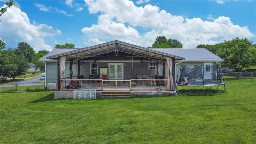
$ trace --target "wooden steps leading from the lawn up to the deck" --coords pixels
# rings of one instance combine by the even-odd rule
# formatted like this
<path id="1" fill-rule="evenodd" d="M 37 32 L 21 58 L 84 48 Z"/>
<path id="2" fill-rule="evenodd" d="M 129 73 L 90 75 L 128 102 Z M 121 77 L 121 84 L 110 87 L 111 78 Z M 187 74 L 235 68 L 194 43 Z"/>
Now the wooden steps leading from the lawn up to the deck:
<path id="1" fill-rule="evenodd" d="M 103 90 L 102 98 L 130 98 L 130 91 L 122 90 Z"/>

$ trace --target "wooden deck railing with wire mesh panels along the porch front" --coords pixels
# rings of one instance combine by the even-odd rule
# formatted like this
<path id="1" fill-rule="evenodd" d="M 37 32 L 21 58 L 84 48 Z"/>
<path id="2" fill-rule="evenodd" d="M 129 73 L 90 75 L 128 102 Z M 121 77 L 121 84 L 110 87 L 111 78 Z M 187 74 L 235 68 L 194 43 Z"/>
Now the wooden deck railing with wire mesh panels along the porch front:
<path id="1" fill-rule="evenodd" d="M 60 79 L 60 90 L 96 89 L 96 90 L 167 90 L 167 79 Z"/>

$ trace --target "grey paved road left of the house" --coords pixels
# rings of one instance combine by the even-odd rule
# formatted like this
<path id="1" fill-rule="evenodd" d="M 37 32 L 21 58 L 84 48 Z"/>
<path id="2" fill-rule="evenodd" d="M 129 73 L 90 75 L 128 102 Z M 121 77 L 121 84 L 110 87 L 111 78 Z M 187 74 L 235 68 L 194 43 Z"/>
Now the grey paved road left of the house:
<path id="1" fill-rule="evenodd" d="M 39 76 L 35 76 L 33 78 L 26 78 L 25 80 L 20 80 L 17 81 L 15 83 L 12 84 L 5 84 L 5 85 L 1 85 L 0 87 L 10 87 L 10 86 L 16 86 L 16 84 L 18 86 L 40 86 L 40 85 L 44 85 L 44 83 L 37 83 L 37 82 L 42 82 L 42 80 L 40 80 L 41 76 L 45 76 L 45 74 L 39 75 Z"/>

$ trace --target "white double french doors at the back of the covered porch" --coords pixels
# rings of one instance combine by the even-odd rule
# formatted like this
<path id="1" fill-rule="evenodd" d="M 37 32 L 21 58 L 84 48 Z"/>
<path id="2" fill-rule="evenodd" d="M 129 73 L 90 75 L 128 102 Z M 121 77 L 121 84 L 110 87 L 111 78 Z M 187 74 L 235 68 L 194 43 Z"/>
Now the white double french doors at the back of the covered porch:
<path id="1" fill-rule="evenodd" d="M 124 79 L 124 64 L 123 63 L 109 63 L 108 72 L 110 80 Z"/>

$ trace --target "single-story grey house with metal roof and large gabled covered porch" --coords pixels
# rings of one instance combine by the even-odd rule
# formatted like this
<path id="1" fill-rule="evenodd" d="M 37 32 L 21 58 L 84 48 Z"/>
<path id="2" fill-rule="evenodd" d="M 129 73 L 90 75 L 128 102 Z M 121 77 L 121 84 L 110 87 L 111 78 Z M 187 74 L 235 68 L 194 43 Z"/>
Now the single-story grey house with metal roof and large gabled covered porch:
<path id="1" fill-rule="evenodd" d="M 201 54 L 206 56 L 197 56 Z M 175 92 L 179 63 L 221 60 L 203 48 L 150 49 L 118 40 L 87 48 L 55 48 L 40 58 L 46 64 L 46 89 L 161 93 Z"/>

